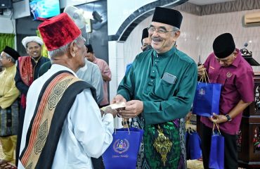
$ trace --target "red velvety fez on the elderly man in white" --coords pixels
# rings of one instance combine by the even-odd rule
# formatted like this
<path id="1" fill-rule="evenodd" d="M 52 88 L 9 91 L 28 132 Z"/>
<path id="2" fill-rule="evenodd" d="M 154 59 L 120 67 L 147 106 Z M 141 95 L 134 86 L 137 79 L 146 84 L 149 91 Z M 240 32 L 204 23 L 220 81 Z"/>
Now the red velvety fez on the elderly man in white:
<path id="1" fill-rule="evenodd" d="M 67 13 L 61 13 L 49 20 L 45 20 L 38 27 L 41 37 L 48 51 L 60 48 L 74 39 L 77 39 L 82 32 L 75 25 Z"/>

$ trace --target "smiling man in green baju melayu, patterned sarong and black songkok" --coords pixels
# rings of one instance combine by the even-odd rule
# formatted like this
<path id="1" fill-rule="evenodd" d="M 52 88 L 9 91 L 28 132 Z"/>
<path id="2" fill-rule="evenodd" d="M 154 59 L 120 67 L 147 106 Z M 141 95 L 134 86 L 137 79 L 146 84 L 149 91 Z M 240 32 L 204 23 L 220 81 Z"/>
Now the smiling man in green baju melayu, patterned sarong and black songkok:
<path id="1" fill-rule="evenodd" d="M 117 89 L 113 103 L 124 101 L 122 118 L 143 113 L 142 168 L 185 168 L 181 154 L 180 118 L 190 111 L 197 82 L 197 65 L 174 46 L 180 36 L 180 12 L 155 8 L 148 27 L 152 49 L 136 56 Z"/>

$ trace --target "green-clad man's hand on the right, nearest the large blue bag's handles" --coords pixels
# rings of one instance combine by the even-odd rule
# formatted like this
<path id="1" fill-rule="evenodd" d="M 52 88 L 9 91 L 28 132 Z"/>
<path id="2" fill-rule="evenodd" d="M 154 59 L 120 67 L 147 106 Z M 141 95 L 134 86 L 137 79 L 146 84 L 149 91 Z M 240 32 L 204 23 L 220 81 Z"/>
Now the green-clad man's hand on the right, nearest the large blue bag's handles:
<path id="1" fill-rule="evenodd" d="M 122 118 L 135 118 L 138 114 L 143 112 L 143 101 L 131 100 L 126 102 L 124 110 L 119 111 Z"/>

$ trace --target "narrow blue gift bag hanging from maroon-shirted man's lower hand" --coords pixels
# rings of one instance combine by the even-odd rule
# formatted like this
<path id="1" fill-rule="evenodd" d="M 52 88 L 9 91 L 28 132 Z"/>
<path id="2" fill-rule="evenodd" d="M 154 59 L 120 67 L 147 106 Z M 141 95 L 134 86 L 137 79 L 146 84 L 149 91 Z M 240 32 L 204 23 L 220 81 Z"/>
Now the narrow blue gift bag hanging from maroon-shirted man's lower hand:
<path id="1" fill-rule="evenodd" d="M 212 144 L 210 147 L 210 154 L 209 154 L 209 168 L 214 168 L 214 169 L 224 168 L 224 146 L 225 146 L 225 139 L 221 135 L 219 131 L 219 127 L 217 132 L 214 131 L 214 127 L 213 127 Z"/>

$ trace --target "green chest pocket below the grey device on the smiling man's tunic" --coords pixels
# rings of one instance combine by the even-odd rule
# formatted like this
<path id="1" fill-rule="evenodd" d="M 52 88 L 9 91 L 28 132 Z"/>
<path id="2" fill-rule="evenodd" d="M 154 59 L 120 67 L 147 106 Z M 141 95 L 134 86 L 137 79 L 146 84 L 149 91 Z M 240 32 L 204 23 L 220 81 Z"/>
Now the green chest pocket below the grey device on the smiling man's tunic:
<path id="1" fill-rule="evenodd" d="M 173 94 L 172 89 L 174 84 L 165 82 L 160 79 L 158 84 L 155 85 L 155 95 L 160 97 L 160 99 L 166 100 Z"/>

